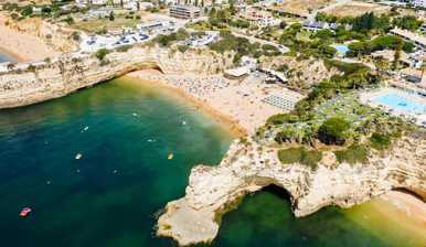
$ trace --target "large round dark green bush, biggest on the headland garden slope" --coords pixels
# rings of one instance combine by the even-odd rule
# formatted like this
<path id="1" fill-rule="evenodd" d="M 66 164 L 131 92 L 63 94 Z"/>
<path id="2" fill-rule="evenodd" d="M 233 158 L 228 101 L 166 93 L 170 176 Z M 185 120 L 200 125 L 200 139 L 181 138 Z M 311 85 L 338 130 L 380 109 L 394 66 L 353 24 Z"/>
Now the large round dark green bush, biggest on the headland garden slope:
<path id="1" fill-rule="evenodd" d="M 318 129 L 318 139 L 326 144 L 343 144 L 348 138 L 350 124 L 339 117 L 327 119 Z"/>

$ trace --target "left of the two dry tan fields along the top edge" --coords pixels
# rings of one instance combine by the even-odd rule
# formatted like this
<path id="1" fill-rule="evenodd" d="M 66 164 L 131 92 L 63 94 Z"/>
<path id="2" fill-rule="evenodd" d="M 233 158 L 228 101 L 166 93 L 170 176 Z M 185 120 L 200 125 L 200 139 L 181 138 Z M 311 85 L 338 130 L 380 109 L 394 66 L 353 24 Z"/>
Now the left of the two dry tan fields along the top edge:
<path id="1" fill-rule="evenodd" d="M 311 11 L 324 8 L 334 2 L 336 0 L 288 0 L 283 4 L 274 7 L 274 9 L 287 13 L 307 17 Z"/>

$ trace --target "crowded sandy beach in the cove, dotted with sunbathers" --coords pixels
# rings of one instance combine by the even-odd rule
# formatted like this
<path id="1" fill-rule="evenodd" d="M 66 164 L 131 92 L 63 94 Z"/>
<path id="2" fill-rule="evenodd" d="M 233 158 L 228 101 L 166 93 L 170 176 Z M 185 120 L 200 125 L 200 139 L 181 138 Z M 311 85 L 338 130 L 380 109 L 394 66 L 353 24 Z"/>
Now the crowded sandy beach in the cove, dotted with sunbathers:
<path id="1" fill-rule="evenodd" d="M 254 133 L 266 119 L 285 110 L 262 101 L 271 94 L 286 94 L 279 85 L 266 85 L 255 79 L 230 80 L 222 75 L 200 76 L 193 74 L 161 74 L 157 71 L 139 71 L 130 77 L 167 86 L 184 94 L 196 105 L 228 119 L 233 128 Z M 290 93 L 291 94 L 291 93 Z M 301 95 L 296 94 L 298 97 Z"/>

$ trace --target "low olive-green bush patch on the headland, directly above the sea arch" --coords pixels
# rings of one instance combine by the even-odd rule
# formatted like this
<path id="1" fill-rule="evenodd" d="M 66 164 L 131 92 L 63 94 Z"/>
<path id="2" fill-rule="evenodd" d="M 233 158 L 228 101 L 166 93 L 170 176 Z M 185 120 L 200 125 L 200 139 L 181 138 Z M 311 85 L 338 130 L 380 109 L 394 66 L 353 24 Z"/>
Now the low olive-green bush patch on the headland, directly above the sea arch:
<path id="1" fill-rule="evenodd" d="M 288 148 L 278 151 L 278 159 L 284 164 L 301 163 L 316 170 L 322 153 L 317 150 L 307 150 L 305 147 Z"/>

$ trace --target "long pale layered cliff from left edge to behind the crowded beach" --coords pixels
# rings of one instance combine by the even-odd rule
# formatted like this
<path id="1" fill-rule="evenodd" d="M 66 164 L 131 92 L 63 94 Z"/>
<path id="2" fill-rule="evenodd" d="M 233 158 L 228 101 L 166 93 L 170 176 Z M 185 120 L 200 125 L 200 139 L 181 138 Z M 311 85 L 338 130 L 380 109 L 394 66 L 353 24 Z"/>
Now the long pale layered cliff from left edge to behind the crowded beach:
<path id="1" fill-rule="evenodd" d="M 170 52 L 159 47 L 135 47 L 109 53 L 105 61 L 93 54 L 71 53 L 51 61 L 0 67 L 0 109 L 25 106 L 65 96 L 79 88 L 125 75 L 157 68 L 166 73 L 212 74 L 230 62 L 221 55 Z"/>

